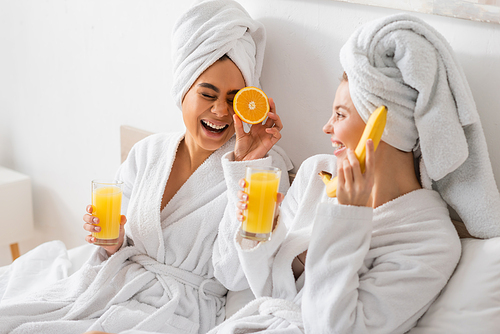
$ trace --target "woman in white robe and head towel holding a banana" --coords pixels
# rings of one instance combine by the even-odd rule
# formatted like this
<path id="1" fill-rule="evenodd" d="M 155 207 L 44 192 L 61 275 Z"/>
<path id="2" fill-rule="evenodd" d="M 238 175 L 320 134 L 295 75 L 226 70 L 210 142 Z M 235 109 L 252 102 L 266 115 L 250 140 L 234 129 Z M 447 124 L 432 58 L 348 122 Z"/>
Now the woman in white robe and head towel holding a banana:
<path id="1" fill-rule="evenodd" d="M 487 182 L 495 184 L 493 175 L 477 176 L 468 167 L 471 159 L 489 164 L 487 156 L 442 154 L 451 142 L 465 141 L 476 152 L 485 145 L 469 136 L 482 131 L 479 118 L 444 38 L 415 17 L 390 16 L 356 31 L 340 60 L 345 73 L 323 128 L 334 154 L 301 165 L 270 241 L 238 236 L 234 221 L 243 219 L 248 195 L 236 179 L 228 189 L 237 207 L 230 235 L 237 252 L 221 261 L 233 272 L 220 279 L 233 290 L 248 282 L 257 298 L 210 333 L 406 333 L 460 257 L 447 204 L 460 211 L 469 231 L 495 233 L 471 218 L 460 193 L 450 191 L 462 187 L 457 180 L 467 175 L 475 185 L 466 186 L 479 197 L 499 198 L 498 190 L 481 190 Z M 377 149 L 372 140 L 358 147 L 370 115 L 382 105 L 387 123 Z M 443 120 L 467 129 L 463 138 L 438 132 Z M 377 132 L 376 125 L 367 128 Z M 360 148 L 366 150 L 364 172 L 354 151 Z M 336 193 L 330 182 L 325 189 L 322 171 L 338 177 Z M 240 187 L 244 183 L 239 180 Z"/>

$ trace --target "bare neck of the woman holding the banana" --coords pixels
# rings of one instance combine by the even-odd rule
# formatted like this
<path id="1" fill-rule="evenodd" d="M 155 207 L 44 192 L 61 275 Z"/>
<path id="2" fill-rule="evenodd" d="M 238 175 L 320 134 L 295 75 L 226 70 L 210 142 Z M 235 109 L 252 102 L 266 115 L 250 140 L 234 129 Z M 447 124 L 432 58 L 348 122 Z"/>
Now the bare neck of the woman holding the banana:
<path id="1" fill-rule="evenodd" d="M 375 182 L 368 205 L 376 208 L 420 188 L 413 153 L 381 141 L 375 152 Z"/>

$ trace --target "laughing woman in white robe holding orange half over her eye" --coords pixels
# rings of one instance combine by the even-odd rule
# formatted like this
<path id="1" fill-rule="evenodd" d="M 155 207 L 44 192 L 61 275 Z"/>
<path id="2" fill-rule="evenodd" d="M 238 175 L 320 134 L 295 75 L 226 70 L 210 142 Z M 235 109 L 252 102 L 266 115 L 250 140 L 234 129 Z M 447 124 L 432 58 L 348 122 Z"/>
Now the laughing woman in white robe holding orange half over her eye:
<path id="1" fill-rule="evenodd" d="M 179 19 L 172 93 L 186 130 L 140 141 L 118 170 L 119 245 L 98 247 L 73 275 L 0 304 L 2 332 L 206 333 L 224 319 L 227 289 L 212 264 L 227 204 L 221 158 L 279 167 L 281 191 L 289 186 L 290 161 L 272 149 L 282 128 L 273 102 L 248 133 L 233 111 L 235 94 L 259 85 L 264 46 L 263 25 L 232 0 L 197 2 Z M 96 232 L 87 210 L 84 228 Z"/>

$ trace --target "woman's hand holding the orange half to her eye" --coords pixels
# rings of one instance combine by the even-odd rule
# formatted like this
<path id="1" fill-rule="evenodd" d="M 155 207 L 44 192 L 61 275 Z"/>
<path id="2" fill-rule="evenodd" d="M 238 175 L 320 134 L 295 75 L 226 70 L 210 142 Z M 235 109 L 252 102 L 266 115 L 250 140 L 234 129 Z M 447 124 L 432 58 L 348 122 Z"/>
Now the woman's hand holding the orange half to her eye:
<path id="1" fill-rule="evenodd" d="M 243 129 L 241 119 L 236 114 L 233 115 L 236 133 L 234 159 L 236 161 L 264 158 L 274 144 L 281 139 L 280 131 L 283 129 L 283 124 L 276 114 L 276 106 L 272 98 L 269 99 L 269 106 L 266 122 L 253 124 L 248 133 Z"/>

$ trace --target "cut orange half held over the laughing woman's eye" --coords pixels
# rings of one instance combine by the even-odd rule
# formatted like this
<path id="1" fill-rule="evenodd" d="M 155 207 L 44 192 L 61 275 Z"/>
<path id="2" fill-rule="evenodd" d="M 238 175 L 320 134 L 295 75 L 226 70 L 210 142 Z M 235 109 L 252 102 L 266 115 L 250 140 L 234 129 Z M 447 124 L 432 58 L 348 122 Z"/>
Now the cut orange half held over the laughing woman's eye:
<path id="1" fill-rule="evenodd" d="M 245 87 L 236 93 L 233 100 L 236 115 L 245 123 L 262 123 L 269 112 L 267 95 L 257 87 Z"/>

